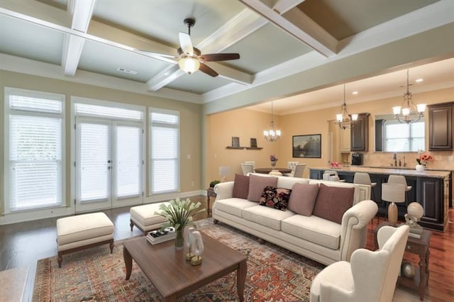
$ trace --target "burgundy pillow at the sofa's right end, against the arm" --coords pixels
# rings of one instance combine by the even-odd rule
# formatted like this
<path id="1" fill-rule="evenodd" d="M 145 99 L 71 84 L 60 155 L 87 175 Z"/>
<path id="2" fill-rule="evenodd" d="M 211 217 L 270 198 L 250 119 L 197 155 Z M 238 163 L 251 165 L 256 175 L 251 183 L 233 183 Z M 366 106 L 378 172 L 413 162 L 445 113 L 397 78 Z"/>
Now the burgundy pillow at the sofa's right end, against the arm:
<path id="1" fill-rule="evenodd" d="M 342 223 L 343 213 L 353 206 L 354 194 L 355 188 L 320 184 L 312 214 L 335 223 Z"/>

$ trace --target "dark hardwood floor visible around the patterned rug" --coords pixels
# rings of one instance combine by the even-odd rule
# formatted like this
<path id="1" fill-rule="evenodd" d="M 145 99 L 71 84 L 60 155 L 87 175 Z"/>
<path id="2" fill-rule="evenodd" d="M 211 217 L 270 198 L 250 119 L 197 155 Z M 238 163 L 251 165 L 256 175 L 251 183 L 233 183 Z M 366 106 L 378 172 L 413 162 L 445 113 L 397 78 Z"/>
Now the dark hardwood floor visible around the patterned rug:
<path id="1" fill-rule="evenodd" d="M 206 196 L 191 197 L 193 201 L 200 201 L 206 208 Z M 211 198 L 211 204 L 213 198 Z M 103 211 L 114 222 L 114 239 L 122 240 L 128 237 L 141 235 L 140 230 L 134 228 L 131 232 L 129 227 L 129 207 L 114 208 Z M 450 220 L 454 221 L 454 211 L 449 211 Z M 206 212 L 197 214 L 195 220 L 207 217 Z M 31 301 L 33 296 L 33 284 L 38 259 L 57 255 L 56 220 L 48 218 L 34 220 L 25 223 L 15 223 L 0 226 L 0 271 L 16 267 L 28 267 L 28 278 L 23 301 Z M 367 248 L 372 250 L 374 237 L 372 230 L 383 218 L 375 218 L 369 225 Z M 424 301 L 454 301 L 454 223 L 448 225 L 445 233 L 433 232 L 430 244 L 430 277 L 428 290 Z M 414 255 L 405 255 L 405 259 L 411 259 L 417 264 L 419 259 Z M 65 265 L 63 259 L 63 265 Z M 411 291 L 399 286 L 399 294 L 394 296 L 394 301 L 415 301 L 416 291 Z M 409 295 L 406 296 L 406 292 Z M 402 294 L 403 293 L 403 294 Z"/>

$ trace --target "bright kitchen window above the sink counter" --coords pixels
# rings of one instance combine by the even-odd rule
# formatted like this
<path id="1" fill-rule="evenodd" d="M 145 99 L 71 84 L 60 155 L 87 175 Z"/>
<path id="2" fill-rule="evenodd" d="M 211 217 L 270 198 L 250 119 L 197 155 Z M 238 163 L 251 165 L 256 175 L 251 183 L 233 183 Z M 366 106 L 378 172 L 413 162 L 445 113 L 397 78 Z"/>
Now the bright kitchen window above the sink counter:
<path id="1" fill-rule="evenodd" d="M 424 122 L 384 122 L 385 151 L 417 152 L 424 150 Z"/>

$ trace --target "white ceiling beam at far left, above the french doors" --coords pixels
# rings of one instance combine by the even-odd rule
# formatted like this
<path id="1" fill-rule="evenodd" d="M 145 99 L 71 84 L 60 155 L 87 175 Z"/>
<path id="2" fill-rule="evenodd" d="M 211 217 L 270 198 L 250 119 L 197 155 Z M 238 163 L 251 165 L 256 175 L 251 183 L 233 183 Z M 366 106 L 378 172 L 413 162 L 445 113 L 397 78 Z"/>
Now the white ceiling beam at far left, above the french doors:
<path id="1" fill-rule="evenodd" d="M 92 20 L 95 3 L 96 0 L 68 1 L 68 11 L 72 15 L 72 29 L 87 33 L 90 20 Z M 65 75 L 74 77 L 74 74 L 76 74 L 80 56 L 84 49 L 84 42 L 84 38 L 75 35 L 65 35 L 65 46 L 63 47 L 62 54 L 62 65 Z"/>

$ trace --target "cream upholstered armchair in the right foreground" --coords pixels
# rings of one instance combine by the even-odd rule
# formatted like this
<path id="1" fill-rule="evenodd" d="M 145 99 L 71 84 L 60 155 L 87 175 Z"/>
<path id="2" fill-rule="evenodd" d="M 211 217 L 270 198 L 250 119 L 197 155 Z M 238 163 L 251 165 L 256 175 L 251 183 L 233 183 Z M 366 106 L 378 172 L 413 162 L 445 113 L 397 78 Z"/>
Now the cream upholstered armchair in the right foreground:
<path id="1" fill-rule="evenodd" d="M 312 282 L 311 302 L 391 302 L 408 235 L 408 225 L 380 228 L 380 250 L 358 249 L 350 262 L 323 269 Z"/>

